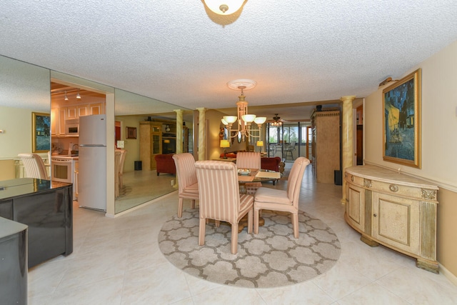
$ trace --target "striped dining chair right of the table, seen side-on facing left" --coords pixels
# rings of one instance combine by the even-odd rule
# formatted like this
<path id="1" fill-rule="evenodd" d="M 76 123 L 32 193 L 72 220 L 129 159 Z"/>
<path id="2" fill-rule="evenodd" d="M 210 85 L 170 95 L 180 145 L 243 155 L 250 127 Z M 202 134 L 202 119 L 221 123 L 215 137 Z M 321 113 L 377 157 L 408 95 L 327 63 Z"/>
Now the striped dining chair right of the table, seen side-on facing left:
<path id="1" fill-rule="evenodd" d="M 288 175 L 287 190 L 260 187 L 254 199 L 254 234 L 258 234 L 258 217 L 263 209 L 290 212 L 292 216 L 293 237 L 298 239 L 298 199 L 301 181 L 309 160 L 298 157 Z"/>

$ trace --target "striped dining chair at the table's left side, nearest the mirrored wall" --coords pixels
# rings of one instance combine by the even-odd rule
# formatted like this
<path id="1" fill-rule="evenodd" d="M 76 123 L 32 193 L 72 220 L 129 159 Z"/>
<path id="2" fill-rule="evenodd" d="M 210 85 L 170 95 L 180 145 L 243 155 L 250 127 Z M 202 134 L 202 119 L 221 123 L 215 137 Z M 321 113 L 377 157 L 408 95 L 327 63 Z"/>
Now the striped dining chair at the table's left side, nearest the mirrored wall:
<path id="1" fill-rule="evenodd" d="M 199 199 L 199 184 L 192 154 L 174 154 L 173 159 L 176 166 L 176 179 L 178 179 L 178 218 L 181 218 L 184 199 L 191 199 L 191 208 L 195 209 L 195 200 Z"/>

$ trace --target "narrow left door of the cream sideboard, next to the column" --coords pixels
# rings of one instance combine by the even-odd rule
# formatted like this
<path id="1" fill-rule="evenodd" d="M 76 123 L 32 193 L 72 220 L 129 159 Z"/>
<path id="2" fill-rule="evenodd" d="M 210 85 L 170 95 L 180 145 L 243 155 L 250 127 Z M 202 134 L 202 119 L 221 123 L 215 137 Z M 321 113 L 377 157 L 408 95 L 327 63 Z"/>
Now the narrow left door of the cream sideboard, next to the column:
<path id="1" fill-rule="evenodd" d="M 350 183 L 346 184 L 346 189 L 346 215 L 356 228 L 365 231 L 365 189 Z"/>

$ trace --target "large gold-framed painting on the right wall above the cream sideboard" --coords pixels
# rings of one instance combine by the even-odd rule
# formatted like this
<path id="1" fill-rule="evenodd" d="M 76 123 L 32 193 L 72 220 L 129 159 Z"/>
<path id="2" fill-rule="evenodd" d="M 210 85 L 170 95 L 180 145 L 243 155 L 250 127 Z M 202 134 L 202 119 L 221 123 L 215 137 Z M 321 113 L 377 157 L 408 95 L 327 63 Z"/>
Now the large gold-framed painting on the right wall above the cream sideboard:
<path id="1" fill-rule="evenodd" d="M 421 168 L 421 69 L 383 89 L 383 160 Z"/>

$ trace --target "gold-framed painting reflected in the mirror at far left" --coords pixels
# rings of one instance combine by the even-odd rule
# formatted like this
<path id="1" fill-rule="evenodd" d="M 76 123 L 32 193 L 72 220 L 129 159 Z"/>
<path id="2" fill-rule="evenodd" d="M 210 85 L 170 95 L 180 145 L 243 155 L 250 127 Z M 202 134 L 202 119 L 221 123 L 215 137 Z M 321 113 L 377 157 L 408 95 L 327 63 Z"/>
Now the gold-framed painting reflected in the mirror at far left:
<path id="1" fill-rule="evenodd" d="M 31 152 L 43 153 L 51 149 L 51 115 L 31 113 Z"/>

